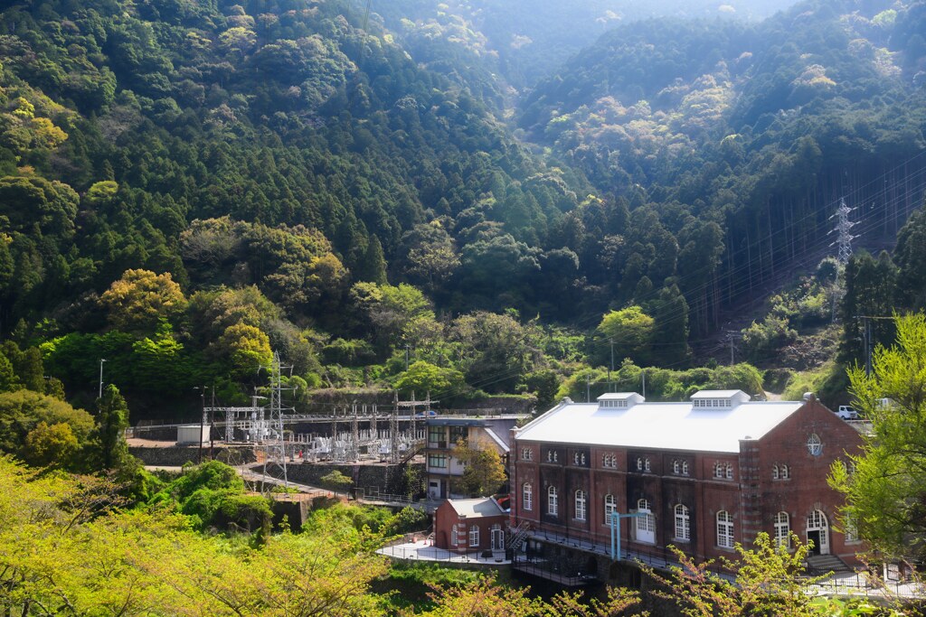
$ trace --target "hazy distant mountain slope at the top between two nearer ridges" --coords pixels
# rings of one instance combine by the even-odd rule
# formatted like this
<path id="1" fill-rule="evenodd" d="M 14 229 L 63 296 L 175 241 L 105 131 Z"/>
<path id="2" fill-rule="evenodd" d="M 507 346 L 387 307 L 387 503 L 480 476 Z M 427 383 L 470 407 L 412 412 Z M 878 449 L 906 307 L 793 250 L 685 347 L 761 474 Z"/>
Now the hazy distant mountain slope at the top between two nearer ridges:
<path id="1" fill-rule="evenodd" d="M 521 90 L 619 24 L 669 16 L 755 20 L 793 4 L 794 0 L 372 0 L 370 6 L 403 35 L 409 53 L 419 62 L 452 79 L 467 79 L 473 64 L 483 70 L 488 67 Z M 447 63 L 448 47 L 456 48 L 458 59 L 476 61 Z"/>

